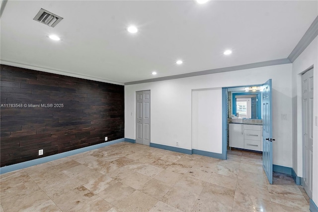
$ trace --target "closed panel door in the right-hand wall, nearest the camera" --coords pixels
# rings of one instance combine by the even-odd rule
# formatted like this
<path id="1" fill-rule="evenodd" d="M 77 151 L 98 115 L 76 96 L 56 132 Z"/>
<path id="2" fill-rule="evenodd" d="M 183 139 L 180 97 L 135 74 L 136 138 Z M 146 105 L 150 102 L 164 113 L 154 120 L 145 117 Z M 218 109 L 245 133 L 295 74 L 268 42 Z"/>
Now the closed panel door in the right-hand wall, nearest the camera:
<path id="1" fill-rule="evenodd" d="M 314 69 L 302 75 L 303 105 L 303 187 L 313 198 Z"/>

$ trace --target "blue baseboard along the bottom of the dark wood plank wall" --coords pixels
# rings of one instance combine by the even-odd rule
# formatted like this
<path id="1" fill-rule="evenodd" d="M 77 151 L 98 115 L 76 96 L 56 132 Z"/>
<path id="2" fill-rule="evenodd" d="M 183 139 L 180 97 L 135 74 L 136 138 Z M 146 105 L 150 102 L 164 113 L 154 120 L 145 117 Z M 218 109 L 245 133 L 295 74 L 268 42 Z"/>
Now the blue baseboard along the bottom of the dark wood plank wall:
<path id="1" fill-rule="evenodd" d="M 0 167 L 0 174 L 16 171 L 16 170 L 19 170 L 19 169 L 24 169 L 24 168 L 27 168 L 27 167 L 30 167 L 30 166 L 35 166 L 35 165 L 38 165 L 38 164 L 41 164 L 41 163 L 46 163 L 46 162 L 49 162 L 49 161 L 52 161 L 52 160 L 57 160 L 57 159 L 60 159 L 60 158 L 71 156 L 71 155 L 76 155 L 76 154 L 79 154 L 79 153 L 82 153 L 82 152 L 90 151 L 90 150 L 93 150 L 93 149 L 98 149 L 98 148 L 101 148 L 101 147 L 104 147 L 104 146 L 109 146 L 109 145 L 112 145 L 112 144 L 115 144 L 115 143 L 120 143 L 120 142 L 123 142 L 123 141 L 125 141 L 125 139 L 124 138 L 120 138 L 120 139 L 117 139 L 117 140 L 108 141 L 108 142 L 104 142 L 104 143 L 100 143 L 100 144 L 95 144 L 95 145 L 92 145 L 92 146 L 86 146 L 86 147 L 83 147 L 83 148 L 80 148 L 80 149 L 75 149 L 75 150 L 71 150 L 71 151 L 68 151 L 68 152 L 62 152 L 62 153 L 59 153 L 59 154 L 50 155 L 50 156 L 43 157 L 43 158 L 29 160 L 29 161 L 25 161 L 25 162 L 22 162 L 22 163 L 9 165 L 9 166 L 3 166 L 3 167 Z"/>

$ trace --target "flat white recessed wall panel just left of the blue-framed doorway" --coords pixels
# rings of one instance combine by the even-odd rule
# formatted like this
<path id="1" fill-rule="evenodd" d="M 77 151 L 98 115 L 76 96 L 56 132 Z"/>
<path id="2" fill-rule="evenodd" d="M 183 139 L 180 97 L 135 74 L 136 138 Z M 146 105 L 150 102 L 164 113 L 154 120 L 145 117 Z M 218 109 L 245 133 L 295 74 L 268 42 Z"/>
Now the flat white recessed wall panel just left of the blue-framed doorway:
<path id="1" fill-rule="evenodd" d="M 192 91 L 192 149 L 222 154 L 222 133 L 215 130 L 222 129 L 220 99 L 222 88 Z"/>

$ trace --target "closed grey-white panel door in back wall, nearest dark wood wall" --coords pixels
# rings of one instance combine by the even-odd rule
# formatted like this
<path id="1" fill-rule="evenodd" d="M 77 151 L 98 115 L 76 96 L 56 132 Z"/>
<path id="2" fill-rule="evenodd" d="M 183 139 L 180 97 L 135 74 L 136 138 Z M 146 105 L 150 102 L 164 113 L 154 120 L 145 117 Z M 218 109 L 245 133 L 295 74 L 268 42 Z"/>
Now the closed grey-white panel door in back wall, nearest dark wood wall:
<path id="1" fill-rule="evenodd" d="M 150 91 L 136 92 L 136 143 L 150 145 Z"/>

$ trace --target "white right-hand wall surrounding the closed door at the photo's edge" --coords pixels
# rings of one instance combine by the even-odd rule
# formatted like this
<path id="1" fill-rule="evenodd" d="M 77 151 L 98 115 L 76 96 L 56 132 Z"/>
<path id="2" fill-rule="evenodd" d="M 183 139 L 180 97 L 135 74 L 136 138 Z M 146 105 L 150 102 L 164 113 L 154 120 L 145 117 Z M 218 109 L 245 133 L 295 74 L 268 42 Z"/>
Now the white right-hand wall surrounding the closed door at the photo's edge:
<path id="1" fill-rule="evenodd" d="M 313 201 L 318 205 L 318 37 L 303 51 L 292 65 L 292 98 L 293 98 L 293 168 L 296 174 L 303 176 L 302 153 L 302 81 L 301 74 L 314 65 L 314 146 L 313 146 Z"/>

